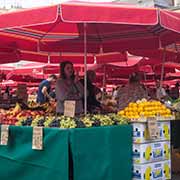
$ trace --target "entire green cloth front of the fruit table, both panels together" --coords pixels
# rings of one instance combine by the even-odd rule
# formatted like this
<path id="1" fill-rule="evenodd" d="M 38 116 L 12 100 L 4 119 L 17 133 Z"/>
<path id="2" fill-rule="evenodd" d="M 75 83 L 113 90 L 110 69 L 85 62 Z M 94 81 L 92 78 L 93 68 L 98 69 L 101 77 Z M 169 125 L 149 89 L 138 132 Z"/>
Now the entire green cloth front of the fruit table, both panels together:
<path id="1" fill-rule="evenodd" d="M 8 145 L 0 145 L 0 179 L 68 180 L 73 172 L 74 180 L 131 180 L 130 125 L 43 133 L 43 150 L 32 150 L 32 128 L 10 126 Z"/>

